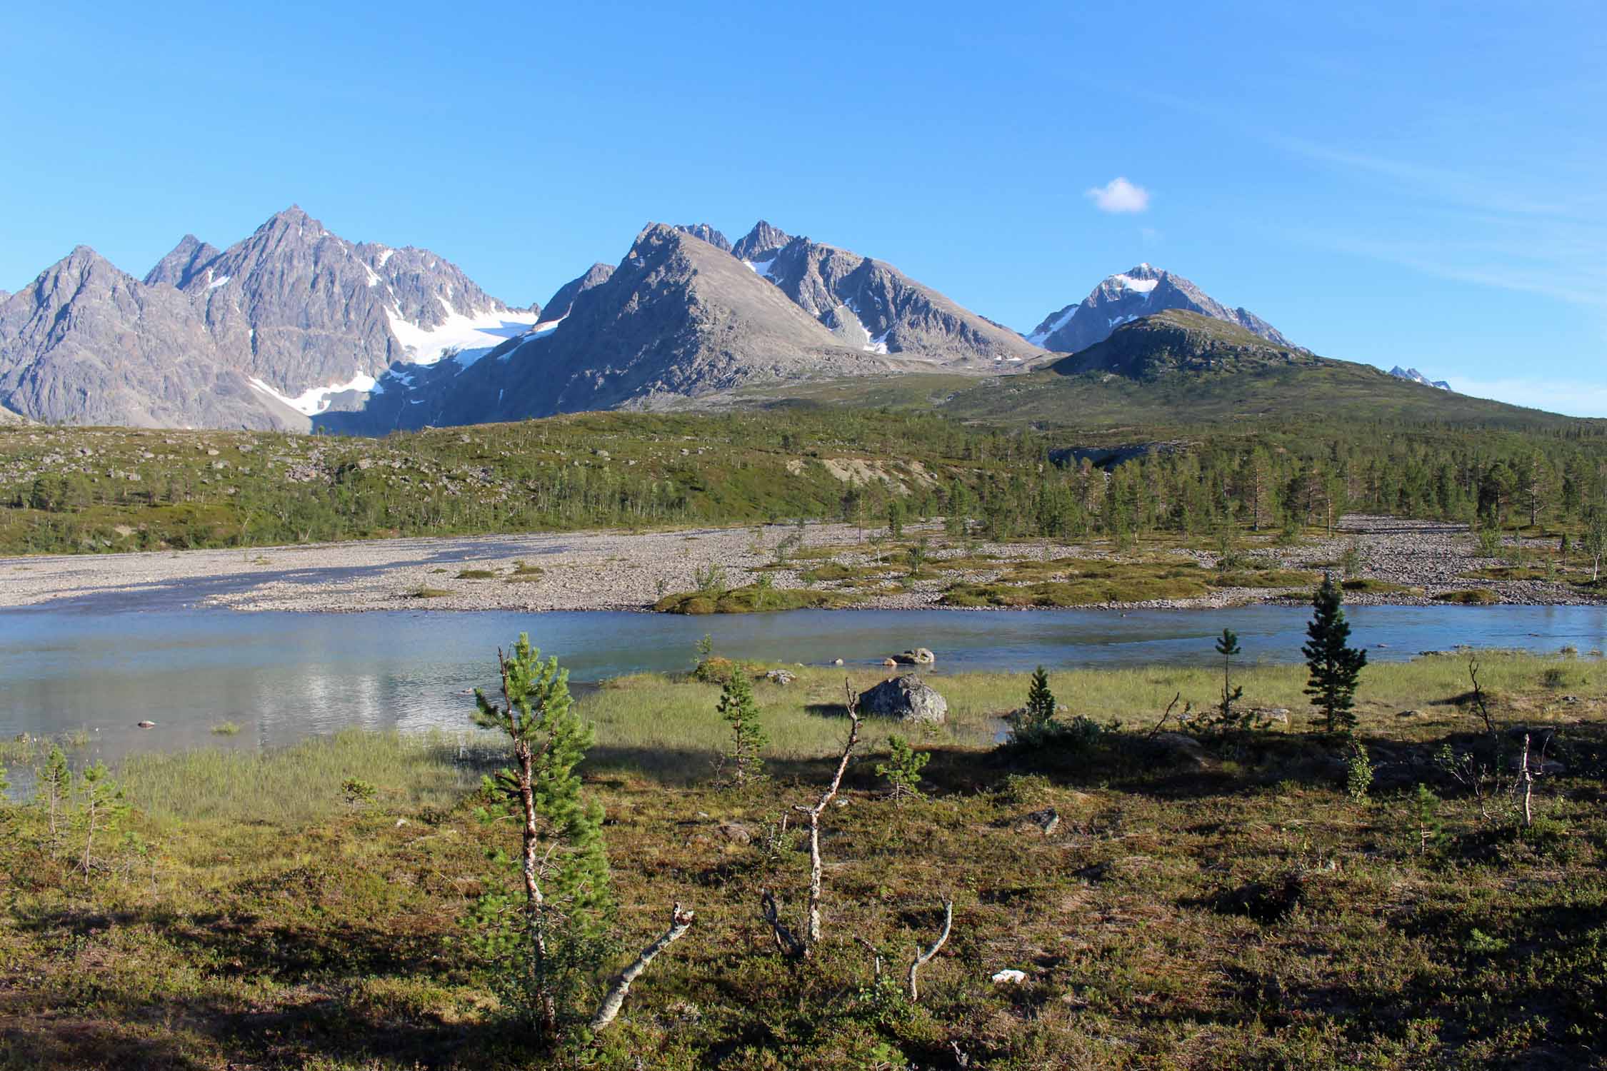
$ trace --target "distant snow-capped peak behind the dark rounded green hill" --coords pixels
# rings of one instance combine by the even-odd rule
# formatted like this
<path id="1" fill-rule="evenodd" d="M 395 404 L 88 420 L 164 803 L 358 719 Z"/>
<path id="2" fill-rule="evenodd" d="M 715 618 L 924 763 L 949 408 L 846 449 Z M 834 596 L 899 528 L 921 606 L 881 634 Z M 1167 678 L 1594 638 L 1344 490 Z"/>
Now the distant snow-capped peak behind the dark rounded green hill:
<path id="1" fill-rule="evenodd" d="M 1276 345 L 1294 348 L 1270 323 L 1247 308 L 1228 308 L 1181 275 L 1141 263 L 1107 276 L 1077 305 L 1045 316 L 1027 340 L 1057 353 L 1075 353 L 1110 337 L 1123 323 L 1176 308 L 1244 328 Z"/>

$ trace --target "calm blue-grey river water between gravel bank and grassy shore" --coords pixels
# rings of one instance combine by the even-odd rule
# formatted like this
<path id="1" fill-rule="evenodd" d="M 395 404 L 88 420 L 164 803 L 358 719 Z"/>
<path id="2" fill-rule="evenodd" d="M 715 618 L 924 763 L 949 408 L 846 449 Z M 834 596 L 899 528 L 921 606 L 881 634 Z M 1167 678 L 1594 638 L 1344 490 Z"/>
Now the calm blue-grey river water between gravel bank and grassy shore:
<path id="1" fill-rule="evenodd" d="M 1353 607 L 1371 658 L 1458 644 L 1581 652 L 1607 647 L 1607 607 Z M 0 612 L 0 739 L 87 729 L 90 755 L 262 747 L 346 726 L 461 729 L 490 686 L 495 649 L 521 631 L 575 681 L 685 670 L 709 633 L 723 655 L 876 665 L 905 647 L 935 673 L 1210 662 L 1223 626 L 1247 660 L 1298 662 L 1310 610 L 657 613 Z M 156 729 L 133 723 L 149 718 Z M 220 721 L 241 726 L 219 737 Z"/>

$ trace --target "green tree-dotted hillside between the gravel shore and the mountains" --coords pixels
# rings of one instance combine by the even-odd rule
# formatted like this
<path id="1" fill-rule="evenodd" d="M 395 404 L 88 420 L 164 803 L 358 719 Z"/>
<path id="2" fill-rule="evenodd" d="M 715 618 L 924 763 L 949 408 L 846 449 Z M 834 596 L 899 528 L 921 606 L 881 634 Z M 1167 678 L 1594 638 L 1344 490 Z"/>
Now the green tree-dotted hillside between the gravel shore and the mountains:
<path id="1" fill-rule="evenodd" d="M 1607 427 L 1395 421 L 980 427 L 930 413 L 596 413 L 387 438 L 0 429 L 0 551 L 911 515 L 995 536 L 1212 533 L 1345 511 L 1554 522 L 1607 501 Z M 958 520 L 956 520 L 958 523 Z"/>

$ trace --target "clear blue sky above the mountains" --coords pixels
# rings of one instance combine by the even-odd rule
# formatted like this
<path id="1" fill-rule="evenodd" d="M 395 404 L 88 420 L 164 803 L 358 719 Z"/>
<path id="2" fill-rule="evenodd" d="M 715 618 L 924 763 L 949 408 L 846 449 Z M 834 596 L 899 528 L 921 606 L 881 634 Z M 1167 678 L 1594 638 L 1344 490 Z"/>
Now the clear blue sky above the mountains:
<path id="1" fill-rule="evenodd" d="M 299 202 L 529 303 L 649 220 L 763 217 L 1022 331 L 1147 260 L 1607 416 L 1607 5 L 1077 6 L 18 5 L 0 287 Z"/>

